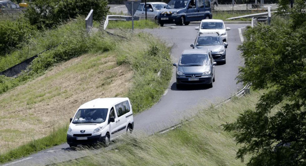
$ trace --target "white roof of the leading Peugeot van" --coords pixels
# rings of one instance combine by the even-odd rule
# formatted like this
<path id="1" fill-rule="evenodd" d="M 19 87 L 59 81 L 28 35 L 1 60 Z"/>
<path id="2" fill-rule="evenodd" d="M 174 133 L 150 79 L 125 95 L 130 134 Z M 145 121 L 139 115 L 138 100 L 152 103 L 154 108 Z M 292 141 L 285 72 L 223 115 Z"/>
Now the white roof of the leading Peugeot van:
<path id="1" fill-rule="evenodd" d="M 97 98 L 82 104 L 78 109 L 85 108 L 110 108 L 113 104 L 129 100 L 129 98 Z"/>

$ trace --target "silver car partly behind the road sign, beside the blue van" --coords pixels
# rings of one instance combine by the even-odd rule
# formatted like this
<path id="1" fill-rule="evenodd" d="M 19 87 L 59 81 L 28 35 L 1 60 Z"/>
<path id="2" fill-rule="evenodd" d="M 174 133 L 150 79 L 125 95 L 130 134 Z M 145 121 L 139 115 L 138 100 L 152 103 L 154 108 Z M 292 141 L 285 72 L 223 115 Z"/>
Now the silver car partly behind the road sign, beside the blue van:
<path id="1" fill-rule="evenodd" d="M 140 3 L 134 16 L 137 16 L 140 19 L 145 19 L 145 10 L 147 10 L 147 18 L 156 19 L 158 11 L 166 6 L 167 4 L 163 2 L 147 2 L 146 7 L 145 3 Z"/>

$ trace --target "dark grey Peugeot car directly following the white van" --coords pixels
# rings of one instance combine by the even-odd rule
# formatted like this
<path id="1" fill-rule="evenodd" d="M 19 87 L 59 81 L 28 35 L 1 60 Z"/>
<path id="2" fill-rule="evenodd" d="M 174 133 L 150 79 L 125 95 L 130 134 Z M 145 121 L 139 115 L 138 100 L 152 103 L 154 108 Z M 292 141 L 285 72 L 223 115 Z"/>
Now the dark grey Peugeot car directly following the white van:
<path id="1" fill-rule="evenodd" d="M 207 84 L 213 87 L 215 81 L 215 65 L 209 49 L 188 49 L 182 52 L 177 67 L 177 88 L 182 84 Z"/>

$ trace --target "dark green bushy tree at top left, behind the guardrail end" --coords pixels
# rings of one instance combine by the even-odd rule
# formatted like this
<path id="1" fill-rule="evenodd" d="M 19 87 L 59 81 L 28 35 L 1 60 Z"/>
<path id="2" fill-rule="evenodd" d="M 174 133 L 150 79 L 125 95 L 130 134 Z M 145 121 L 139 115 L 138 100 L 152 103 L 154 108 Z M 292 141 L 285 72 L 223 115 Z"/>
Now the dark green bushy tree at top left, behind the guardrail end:
<path id="1" fill-rule="evenodd" d="M 87 16 L 91 9 L 97 21 L 109 11 L 105 0 L 36 0 L 27 7 L 25 16 L 38 28 L 52 28 L 77 15 Z"/>

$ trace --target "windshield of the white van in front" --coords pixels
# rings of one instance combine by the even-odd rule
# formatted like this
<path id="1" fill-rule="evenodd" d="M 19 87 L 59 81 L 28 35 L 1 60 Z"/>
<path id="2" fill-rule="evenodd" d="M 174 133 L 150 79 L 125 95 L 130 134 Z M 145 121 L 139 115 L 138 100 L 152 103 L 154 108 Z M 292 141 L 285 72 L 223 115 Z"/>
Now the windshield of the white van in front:
<path id="1" fill-rule="evenodd" d="M 102 123 L 107 116 L 108 108 L 79 109 L 72 123 Z"/>

